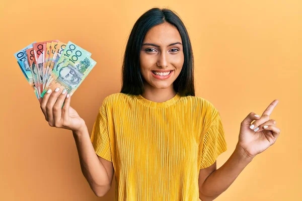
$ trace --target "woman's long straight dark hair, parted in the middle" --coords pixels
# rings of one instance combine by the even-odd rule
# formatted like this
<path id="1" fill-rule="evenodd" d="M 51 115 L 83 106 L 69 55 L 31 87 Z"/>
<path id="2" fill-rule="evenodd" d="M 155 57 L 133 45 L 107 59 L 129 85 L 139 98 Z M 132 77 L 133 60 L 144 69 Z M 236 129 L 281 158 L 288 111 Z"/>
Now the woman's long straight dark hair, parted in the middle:
<path id="1" fill-rule="evenodd" d="M 173 88 L 181 96 L 195 96 L 194 59 L 188 32 L 175 12 L 159 8 L 153 8 L 145 12 L 138 18 L 131 30 L 123 60 L 121 93 L 138 95 L 144 92 L 143 77 L 140 73 L 139 64 L 141 45 L 149 29 L 165 22 L 174 25 L 178 29 L 184 52 L 184 64 L 180 74 L 173 82 Z"/>

